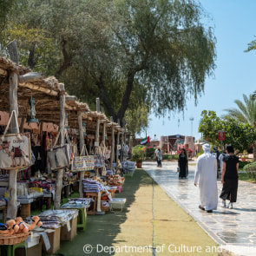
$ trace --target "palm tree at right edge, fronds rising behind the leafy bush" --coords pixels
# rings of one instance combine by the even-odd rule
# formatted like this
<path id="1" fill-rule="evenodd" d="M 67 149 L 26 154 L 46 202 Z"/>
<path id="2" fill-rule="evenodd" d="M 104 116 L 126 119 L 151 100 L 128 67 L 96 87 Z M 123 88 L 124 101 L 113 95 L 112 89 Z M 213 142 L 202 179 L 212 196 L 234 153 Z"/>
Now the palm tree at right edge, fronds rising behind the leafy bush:
<path id="1" fill-rule="evenodd" d="M 224 111 L 227 111 L 226 116 L 231 116 L 235 120 L 250 123 L 253 129 L 256 129 L 256 91 L 252 95 L 247 97 L 243 95 L 244 102 L 240 100 L 235 100 L 238 108 L 227 108 Z M 256 161 L 256 141 L 253 142 L 253 161 Z"/>

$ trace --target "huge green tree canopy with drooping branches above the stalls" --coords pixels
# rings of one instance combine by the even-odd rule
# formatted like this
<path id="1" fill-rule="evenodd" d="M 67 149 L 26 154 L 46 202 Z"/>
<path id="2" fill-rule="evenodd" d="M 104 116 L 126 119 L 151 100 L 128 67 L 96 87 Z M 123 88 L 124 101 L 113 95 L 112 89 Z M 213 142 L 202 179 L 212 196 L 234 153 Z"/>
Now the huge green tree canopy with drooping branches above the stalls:
<path id="1" fill-rule="evenodd" d="M 151 105 L 156 115 L 183 110 L 214 69 L 213 30 L 193 0 L 24 0 L 21 7 L 9 20 L 49 43 L 21 39 L 24 58 L 89 105 L 99 96 L 115 121 L 137 109 L 131 98 L 143 113 Z"/>

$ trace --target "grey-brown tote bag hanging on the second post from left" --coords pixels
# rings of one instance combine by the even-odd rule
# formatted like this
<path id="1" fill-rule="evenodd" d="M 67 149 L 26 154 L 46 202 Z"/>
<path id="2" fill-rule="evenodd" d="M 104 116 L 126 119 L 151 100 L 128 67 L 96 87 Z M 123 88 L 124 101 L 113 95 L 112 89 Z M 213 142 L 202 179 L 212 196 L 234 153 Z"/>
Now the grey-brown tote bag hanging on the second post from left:
<path id="1" fill-rule="evenodd" d="M 64 144 L 65 130 L 61 128 L 53 148 L 47 150 L 47 162 L 48 169 L 50 171 L 63 169 L 69 167 L 70 155 L 69 155 L 69 144 Z M 62 135 L 61 145 L 56 146 L 59 135 Z"/>

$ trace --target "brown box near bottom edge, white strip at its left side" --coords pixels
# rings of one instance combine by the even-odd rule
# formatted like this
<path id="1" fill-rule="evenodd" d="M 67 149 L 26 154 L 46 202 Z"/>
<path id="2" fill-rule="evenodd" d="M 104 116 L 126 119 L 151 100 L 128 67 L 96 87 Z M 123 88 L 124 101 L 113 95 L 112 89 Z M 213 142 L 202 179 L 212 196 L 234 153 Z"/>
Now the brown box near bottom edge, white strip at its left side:
<path id="1" fill-rule="evenodd" d="M 50 248 L 48 251 L 46 251 L 43 238 L 42 240 L 42 250 L 47 253 L 56 253 L 60 249 L 60 242 L 61 242 L 61 227 L 55 228 L 55 229 L 46 229 L 44 231 L 48 238 L 49 238 L 49 244 Z"/>

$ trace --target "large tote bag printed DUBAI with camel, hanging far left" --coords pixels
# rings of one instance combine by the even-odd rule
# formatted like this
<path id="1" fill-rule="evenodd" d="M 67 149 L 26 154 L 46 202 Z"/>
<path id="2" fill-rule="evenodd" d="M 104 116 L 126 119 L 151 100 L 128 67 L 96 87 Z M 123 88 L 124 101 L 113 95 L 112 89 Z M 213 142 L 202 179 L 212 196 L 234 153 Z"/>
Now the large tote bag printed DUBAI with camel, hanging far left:
<path id="1" fill-rule="evenodd" d="M 14 117 L 16 134 L 7 134 L 10 121 Z M 10 119 L 0 139 L 0 168 L 23 169 L 31 165 L 30 133 L 19 133 L 16 111 L 13 110 Z"/>

